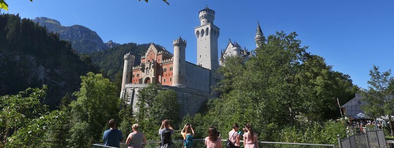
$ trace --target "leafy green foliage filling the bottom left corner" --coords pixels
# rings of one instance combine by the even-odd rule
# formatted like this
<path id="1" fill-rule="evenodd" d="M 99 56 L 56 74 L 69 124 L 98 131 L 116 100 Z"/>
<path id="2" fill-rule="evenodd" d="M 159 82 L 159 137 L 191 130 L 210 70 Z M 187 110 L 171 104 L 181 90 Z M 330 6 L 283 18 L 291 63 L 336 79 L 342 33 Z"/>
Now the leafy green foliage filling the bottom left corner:
<path id="1" fill-rule="evenodd" d="M 28 88 L 17 95 L 1 97 L 0 147 L 6 148 L 63 148 L 68 133 L 68 114 L 64 111 L 47 112 L 41 100 L 46 96 L 46 85 L 41 89 Z"/>

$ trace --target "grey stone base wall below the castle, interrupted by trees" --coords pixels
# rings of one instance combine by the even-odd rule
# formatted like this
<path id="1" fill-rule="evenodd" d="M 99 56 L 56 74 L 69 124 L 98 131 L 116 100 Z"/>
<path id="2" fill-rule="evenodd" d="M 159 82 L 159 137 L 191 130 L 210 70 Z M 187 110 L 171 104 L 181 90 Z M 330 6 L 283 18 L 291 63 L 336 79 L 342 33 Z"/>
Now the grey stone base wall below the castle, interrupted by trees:
<path id="1" fill-rule="evenodd" d="M 133 111 L 138 111 L 138 108 L 136 107 L 138 90 L 146 86 L 148 86 L 148 84 L 126 84 L 125 98 L 129 100 L 129 104 L 132 105 Z M 181 109 L 179 111 L 180 118 L 187 113 L 191 115 L 196 114 L 208 99 L 213 98 L 213 96 L 202 91 L 162 85 L 162 90 L 166 89 L 172 89 L 176 92 L 177 100 L 181 104 Z"/>

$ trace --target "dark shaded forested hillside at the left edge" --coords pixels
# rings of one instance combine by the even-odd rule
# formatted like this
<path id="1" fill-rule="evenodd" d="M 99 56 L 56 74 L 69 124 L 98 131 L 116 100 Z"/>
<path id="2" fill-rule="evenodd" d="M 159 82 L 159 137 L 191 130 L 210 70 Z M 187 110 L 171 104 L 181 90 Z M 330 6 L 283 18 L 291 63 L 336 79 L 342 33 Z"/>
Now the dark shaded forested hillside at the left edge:
<path id="1" fill-rule="evenodd" d="M 80 75 L 98 72 L 89 57 L 71 44 L 18 15 L 0 15 L 0 96 L 48 85 L 45 103 L 54 109 L 68 92 L 79 89 Z"/>

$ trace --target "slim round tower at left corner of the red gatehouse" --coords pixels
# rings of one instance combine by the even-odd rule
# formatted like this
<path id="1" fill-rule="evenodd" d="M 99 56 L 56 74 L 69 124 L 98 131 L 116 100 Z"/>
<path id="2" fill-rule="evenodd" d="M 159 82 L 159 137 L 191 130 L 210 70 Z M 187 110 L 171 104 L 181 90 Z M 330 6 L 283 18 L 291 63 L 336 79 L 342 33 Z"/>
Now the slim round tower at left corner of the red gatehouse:
<path id="1" fill-rule="evenodd" d="M 131 55 L 131 53 L 127 53 L 125 54 L 124 60 L 125 60 L 125 64 L 123 66 L 123 78 L 122 78 L 122 89 L 121 89 L 121 93 L 120 93 L 120 98 L 124 98 L 124 92 L 126 92 L 125 86 L 126 83 L 130 83 L 131 82 L 131 69 L 132 66 L 134 65 L 134 59 L 135 57 L 133 55 Z"/>

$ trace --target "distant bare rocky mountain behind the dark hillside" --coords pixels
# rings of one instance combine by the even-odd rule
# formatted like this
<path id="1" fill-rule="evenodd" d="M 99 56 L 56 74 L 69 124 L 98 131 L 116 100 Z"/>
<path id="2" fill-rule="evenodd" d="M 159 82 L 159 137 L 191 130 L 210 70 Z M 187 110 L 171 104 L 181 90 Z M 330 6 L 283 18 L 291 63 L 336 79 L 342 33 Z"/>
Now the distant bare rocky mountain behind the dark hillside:
<path id="1" fill-rule="evenodd" d="M 46 17 L 36 17 L 33 21 L 45 26 L 48 32 L 59 33 L 60 39 L 70 41 L 79 53 L 90 54 L 117 45 L 112 40 L 104 43 L 96 32 L 81 25 L 62 26 L 59 21 Z"/>

